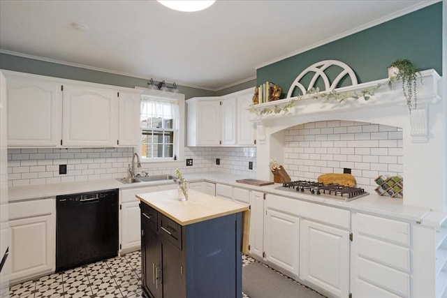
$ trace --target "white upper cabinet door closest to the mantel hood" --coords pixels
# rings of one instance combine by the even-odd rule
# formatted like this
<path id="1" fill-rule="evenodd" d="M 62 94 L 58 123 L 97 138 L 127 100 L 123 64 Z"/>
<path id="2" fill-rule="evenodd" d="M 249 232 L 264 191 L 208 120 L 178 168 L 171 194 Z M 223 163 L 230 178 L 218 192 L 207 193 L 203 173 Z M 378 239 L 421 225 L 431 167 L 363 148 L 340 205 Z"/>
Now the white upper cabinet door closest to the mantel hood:
<path id="1" fill-rule="evenodd" d="M 247 110 L 252 103 L 254 90 L 247 94 L 237 96 L 237 144 L 254 146 L 255 125 L 250 121 L 250 112 Z"/>

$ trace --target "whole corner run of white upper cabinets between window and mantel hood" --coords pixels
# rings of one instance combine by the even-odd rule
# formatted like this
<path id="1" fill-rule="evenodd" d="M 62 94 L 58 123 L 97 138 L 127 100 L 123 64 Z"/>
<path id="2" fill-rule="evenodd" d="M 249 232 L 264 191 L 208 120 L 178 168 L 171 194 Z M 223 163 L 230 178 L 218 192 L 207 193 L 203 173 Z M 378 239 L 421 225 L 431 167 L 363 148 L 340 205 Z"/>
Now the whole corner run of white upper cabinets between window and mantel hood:
<path id="1" fill-rule="evenodd" d="M 187 146 L 254 146 L 255 127 L 247 110 L 253 90 L 186 100 Z"/>

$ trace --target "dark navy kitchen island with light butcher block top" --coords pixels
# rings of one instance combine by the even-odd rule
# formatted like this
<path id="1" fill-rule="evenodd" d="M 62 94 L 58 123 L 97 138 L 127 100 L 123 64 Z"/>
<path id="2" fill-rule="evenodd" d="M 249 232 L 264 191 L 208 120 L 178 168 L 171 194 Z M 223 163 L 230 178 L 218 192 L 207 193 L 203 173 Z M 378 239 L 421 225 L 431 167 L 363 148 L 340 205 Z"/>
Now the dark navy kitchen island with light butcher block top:
<path id="1" fill-rule="evenodd" d="M 136 196 L 142 289 L 149 297 L 241 297 L 242 212 L 248 207 L 189 191 Z"/>

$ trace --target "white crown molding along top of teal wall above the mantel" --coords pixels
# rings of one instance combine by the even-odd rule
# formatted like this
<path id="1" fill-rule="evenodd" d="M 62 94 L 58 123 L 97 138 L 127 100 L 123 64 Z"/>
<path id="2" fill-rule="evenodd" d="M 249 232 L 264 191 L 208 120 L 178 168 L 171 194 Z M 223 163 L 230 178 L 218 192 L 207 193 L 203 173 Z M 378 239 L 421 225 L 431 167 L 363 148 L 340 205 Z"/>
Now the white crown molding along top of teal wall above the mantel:
<path id="1" fill-rule="evenodd" d="M 360 27 L 356 27 L 356 28 L 351 29 L 349 31 L 345 31 L 344 33 L 340 33 L 338 35 L 332 36 L 331 38 L 328 38 L 328 39 L 325 39 L 325 40 L 321 40 L 320 42 L 314 43 L 313 45 L 309 45 L 308 47 L 302 47 L 300 50 L 296 50 L 294 52 L 285 54 L 283 56 L 277 57 L 276 59 L 265 61 L 262 64 L 258 64 L 256 66 L 254 66 L 254 68 L 256 70 L 258 70 L 261 67 L 268 66 L 270 64 L 274 64 L 274 63 L 276 63 L 278 61 L 281 61 L 281 60 L 293 57 L 293 56 L 301 54 L 303 52 L 307 52 L 307 51 L 312 50 L 312 49 L 314 49 L 316 47 L 320 47 L 321 45 L 332 43 L 332 41 L 339 40 L 339 39 L 344 38 L 346 36 L 350 36 L 353 33 L 357 33 L 357 32 L 360 32 L 362 30 L 372 28 L 372 27 L 377 26 L 379 24 L 382 24 L 384 22 L 388 22 L 390 20 L 394 20 L 397 17 L 402 17 L 402 15 L 406 15 L 408 13 L 413 13 L 413 11 L 419 10 L 421 8 L 425 8 L 427 6 L 430 6 L 430 5 L 434 4 L 434 3 L 441 2 L 441 1 L 442 0 L 434 0 L 434 1 L 423 1 L 421 3 L 417 3 L 417 4 L 413 5 L 413 6 L 410 6 L 409 8 L 406 8 L 404 10 L 398 11 L 397 13 L 392 13 L 390 15 L 387 15 L 386 17 L 381 17 L 381 18 L 379 18 L 377 20 L 374 20 L 372 22 L 369 22 L 367 24 L 363 24 Z"/>

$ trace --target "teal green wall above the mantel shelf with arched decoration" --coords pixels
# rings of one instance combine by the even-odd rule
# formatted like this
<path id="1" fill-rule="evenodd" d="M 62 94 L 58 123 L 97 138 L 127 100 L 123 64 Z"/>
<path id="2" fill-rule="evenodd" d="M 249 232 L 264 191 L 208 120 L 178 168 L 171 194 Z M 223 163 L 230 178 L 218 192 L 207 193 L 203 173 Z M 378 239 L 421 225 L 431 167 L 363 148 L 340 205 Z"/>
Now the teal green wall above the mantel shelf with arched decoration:
<path id="1" fill-rule="evenodd" d="M 388 77 L 388 65 L 398 58 L 442 75 L 442 2 L 259 68 L 256 84 L 275 82 L 284 98 L 302 70 L 318 61 L 342 61 L 362 83 Z"/>

